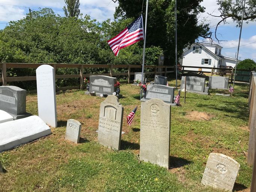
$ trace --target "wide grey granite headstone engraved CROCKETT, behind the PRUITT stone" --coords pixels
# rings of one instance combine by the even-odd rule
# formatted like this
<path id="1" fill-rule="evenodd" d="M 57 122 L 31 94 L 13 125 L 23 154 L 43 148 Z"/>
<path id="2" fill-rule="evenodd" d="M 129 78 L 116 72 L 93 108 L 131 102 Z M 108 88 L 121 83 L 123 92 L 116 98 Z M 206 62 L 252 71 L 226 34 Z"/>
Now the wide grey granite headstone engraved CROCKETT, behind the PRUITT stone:
<path id="1" fill-rule="evenodd" d="M 185 77 L 181 78 L 181 91 L 185 90 Z M 204 92 L 205 90 L 205 78 L 187 76 L 186 90 L 192 92 Z"/>

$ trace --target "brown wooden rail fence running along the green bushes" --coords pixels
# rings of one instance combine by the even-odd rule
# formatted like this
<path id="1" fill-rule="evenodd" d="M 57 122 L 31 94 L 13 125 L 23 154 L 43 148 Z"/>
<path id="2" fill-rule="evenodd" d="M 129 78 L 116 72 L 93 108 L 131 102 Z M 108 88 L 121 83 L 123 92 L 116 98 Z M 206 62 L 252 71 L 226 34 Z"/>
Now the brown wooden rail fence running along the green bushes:
<path id="1" fill-rule="evenodd" d="M 0 78 L 0 83 L 3 86 L 7 85 L 7 82 L 13 81 L 32 81 L 36 80 L 36 76 L 23 76 L 23 77 L 7 77 L 6 69 L 8 68 L 38 68 L 41 65 L 50 65 L 55 69 L 55 78 L 80 78 L 80 85 L 73 87 L 57 87 L 56 90 L 68 90 L 68 89 L 84 89 L 83 79 L 84 77 L 90 77 L 90 75 L 106 75 L 110 77 L 124 75 L 127 76 L 128 83 L 133 82 L 131 80 L 131 75 L 134 75 L 134 72 L 131 72 L 132 68 L 142 68 L 142 65 L 89 65 L 89 64 L 55 64 L 55 63 L 0 63 L 0 68 L 2 69 L 2 78 Z M 69 75 L 56 75 L 56 69 L 58 68 L 78 68 L 80 69 L 80 74 L 69 74 Z M 84 69 L 86 68 L 107 68 L 109 73 L 107 74 L 84 74 Z M 114 68 L 125 68 L 128 72 L 125 73 L 113 73 Z M 145 72 L 145 74 L 164 74 L 166 76 L 169 73 L 174 73 L 174 66 L 153 66 L 145 65 L 145 68 L 154 69 L 152 72 Z M 162 69 L 158 71 L 157 69 Z M 163 70 L 164 69 L 164 70 Z"/>

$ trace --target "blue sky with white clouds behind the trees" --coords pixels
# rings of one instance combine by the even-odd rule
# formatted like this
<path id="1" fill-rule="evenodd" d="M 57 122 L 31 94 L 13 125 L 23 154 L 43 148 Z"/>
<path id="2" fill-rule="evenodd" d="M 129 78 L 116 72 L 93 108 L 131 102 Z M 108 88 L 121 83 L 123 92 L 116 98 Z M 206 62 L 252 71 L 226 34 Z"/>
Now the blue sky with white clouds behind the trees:
<path id="1" fill-rule="evenodd" d="M 211 30 L 214 30 L 220 20 L 207 13 L 219 14 L 216 0 L 204 0 L 201 5 L 206 9 L 205 13 L 198 16 L 199 20 L 209 23 Z M 64 16 L 63 6 L 65 6 L 64 0 L 0 0 L 0 29 L 8 26 L 9 21 L 17 21 L 25 17 L 29 13 L 29 7 L 32 10 L 39 10 L 39 7 L 50 7 L 56 14 Z M 99 22 L 108 18 L 113 20 L 116 6 L 118 6 L 118 0 L 116 3 L 112 0 L 80 0 L 80 12 L 83 15 L 90 15 L 91 19 L 96 19 Z M 237 28 L 236 23 L 231 19 L 228 22 L 229 24 L 221 24 L 218 27 L 217 37 L 221 40 L 219 45 L 223 47 L 221 54 L 235 58 L 240 28 Z M 179 35 L 179 31 L 177 33 Z M 214 40 L 216 42 L 216 39 Z M 202 42 L 202 39 L 199 39 L 199 42 Z M 251 58 L 256 61 L 256 22 L 243 23 L 240 46 L 238 59 Z"/>

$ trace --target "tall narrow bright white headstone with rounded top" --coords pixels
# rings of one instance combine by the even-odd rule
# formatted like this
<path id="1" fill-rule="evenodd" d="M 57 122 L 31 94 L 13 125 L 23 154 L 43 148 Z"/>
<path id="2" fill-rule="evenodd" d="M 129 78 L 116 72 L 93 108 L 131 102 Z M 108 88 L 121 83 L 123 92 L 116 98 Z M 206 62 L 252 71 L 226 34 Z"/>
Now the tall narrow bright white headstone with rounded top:
<path id="1" fill-rule="evenodd" d="M 54 68 L 41 65 L 36 69 L 38 116 L 52 127 L 57 127 Z"/>

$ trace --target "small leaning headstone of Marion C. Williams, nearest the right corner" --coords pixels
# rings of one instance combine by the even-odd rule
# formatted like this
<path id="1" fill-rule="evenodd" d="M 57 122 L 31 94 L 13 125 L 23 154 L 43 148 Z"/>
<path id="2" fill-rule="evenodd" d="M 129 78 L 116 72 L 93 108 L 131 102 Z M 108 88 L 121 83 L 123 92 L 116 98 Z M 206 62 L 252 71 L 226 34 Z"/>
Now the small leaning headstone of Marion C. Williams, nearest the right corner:
<path id="1" fill-rule="evenodd" d="M 201 183 L 232 192 L 239 167 L 239 163 L 229 156 L 210 153 Z"/>

